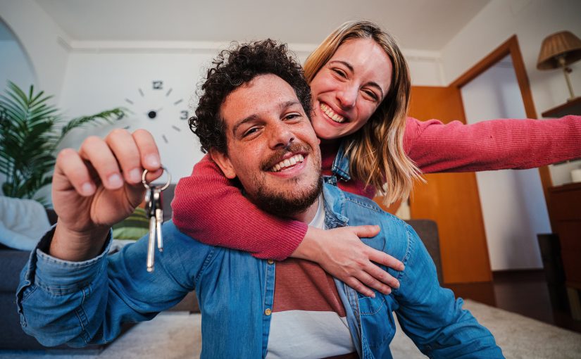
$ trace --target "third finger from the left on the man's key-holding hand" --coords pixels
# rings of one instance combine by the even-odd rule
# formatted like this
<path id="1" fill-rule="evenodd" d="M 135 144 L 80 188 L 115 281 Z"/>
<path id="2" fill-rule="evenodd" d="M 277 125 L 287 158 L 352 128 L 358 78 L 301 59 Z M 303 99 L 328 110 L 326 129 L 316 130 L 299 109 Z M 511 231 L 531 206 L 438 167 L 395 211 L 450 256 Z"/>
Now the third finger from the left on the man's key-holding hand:
<path id="1" fill-rule="evenodd" d="M 143 168 L 139 149 L 132 135 L 127 130 L 116 129 L 107 135 L 105 141 L 117 158 L 125 181 L 130 184 L 141 183 Z"/>

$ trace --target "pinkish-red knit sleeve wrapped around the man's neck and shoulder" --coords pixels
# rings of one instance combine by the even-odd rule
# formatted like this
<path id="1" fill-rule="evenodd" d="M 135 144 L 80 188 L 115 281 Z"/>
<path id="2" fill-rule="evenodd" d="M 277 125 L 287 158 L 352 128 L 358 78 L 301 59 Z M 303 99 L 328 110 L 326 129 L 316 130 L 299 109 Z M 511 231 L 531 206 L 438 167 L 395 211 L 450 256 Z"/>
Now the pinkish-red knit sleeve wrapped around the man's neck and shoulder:
<path id="1" fill-rule="evenodd" d="M 240 249 L 256 258 L 284 260 L 299 246 L 307 225 L 264 213 L 248 201 L 205 156 L 175 187 L 173 222 L 205 244 Z"/>

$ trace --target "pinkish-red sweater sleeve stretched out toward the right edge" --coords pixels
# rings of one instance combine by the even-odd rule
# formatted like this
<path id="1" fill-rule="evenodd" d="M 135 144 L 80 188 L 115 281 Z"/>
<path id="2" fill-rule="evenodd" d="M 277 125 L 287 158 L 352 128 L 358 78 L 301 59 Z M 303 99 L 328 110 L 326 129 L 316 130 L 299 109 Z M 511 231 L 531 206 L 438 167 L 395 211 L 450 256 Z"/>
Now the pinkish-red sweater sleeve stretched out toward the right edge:
<path id="1" fill-rule="evenodd" d="M 581 116 L 473 125 L 408 118 L 404 149 L 425 173 L 535 168 L 581 158 Z"/>

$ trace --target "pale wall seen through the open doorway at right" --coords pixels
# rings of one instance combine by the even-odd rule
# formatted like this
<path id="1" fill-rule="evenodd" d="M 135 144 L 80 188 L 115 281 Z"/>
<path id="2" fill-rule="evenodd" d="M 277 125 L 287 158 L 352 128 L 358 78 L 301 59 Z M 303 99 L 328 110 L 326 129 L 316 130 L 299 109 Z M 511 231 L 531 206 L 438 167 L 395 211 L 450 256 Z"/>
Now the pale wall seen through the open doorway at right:
<path id="1" fill-rule="evenodd" d="M 524 118 L 510 57 L 461 89 L 466 121 Z M 541 268 L 538 233 L 550 233 L 537 169 L 476 173 L 492 270 Z"/>

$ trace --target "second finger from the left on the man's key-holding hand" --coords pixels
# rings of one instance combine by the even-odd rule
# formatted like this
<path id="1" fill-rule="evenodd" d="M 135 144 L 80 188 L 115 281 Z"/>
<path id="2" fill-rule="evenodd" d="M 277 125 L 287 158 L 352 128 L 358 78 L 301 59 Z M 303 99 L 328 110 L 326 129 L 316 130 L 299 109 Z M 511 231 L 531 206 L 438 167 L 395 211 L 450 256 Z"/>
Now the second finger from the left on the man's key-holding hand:
<path id="1" fill-rule="evenodd" d="M 96 170 L 106 189 L 119 189 L 125 181 L 121 177 L 117 159 L 103 139 L 87 137 L 79 150 L 81 158 L 88 160 Z"/>

